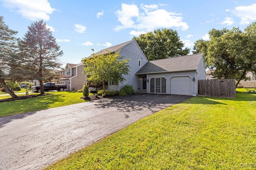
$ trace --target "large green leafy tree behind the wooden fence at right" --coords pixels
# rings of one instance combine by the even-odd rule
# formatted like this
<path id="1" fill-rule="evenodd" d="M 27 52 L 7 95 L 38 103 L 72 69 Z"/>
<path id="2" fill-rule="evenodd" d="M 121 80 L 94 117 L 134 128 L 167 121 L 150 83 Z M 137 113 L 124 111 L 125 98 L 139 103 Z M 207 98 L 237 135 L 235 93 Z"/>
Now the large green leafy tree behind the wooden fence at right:
<path id="1" fill-rule="evenodd" d="M 195 42 L 193 53 L 204 55 L 206 68 L 211 70 L 214 78 L 236 78 L 238 86 L 246 80 L 246 73 L 256 72 L 256 22 L 241 31 L 238 27 L 229 29 L 212 29 L 210 40 Z"/>

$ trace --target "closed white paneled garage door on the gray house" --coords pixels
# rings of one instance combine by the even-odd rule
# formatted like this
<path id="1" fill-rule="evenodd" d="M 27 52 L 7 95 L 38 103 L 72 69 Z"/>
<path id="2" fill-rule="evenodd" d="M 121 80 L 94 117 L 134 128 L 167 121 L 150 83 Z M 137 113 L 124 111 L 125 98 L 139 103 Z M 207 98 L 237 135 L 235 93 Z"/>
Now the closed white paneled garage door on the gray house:
<path id="1" fill-rule="evenodd" d="M 192 79 L 189 76 L 172 77 L 170 92 L 171 94 L 192 95 Z"/>

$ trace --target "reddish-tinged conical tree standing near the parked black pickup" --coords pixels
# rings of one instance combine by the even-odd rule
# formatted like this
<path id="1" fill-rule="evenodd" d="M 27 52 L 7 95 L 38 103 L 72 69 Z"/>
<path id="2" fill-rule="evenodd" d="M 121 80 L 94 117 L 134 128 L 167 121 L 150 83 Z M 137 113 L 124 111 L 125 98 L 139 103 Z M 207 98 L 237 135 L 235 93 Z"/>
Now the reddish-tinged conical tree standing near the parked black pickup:
<path id="1" fill-rule="evenodd" d="M 50 29 L 43 20 L 28 26 L 28 31 L 20 41 L 20 49 L 30 66 L 30 79 L 39 80 L 41 94 L 44 94 L 43 82 L 52 74 L 52 69 L 60 68 L 58 57 L 63 55 Z"/>

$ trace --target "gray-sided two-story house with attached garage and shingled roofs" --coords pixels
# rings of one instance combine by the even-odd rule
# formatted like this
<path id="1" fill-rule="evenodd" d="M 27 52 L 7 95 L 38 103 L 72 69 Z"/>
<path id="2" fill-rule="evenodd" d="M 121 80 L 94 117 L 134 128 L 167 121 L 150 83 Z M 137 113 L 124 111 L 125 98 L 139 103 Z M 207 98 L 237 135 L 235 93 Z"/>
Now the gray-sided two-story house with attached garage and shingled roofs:
<path id="1" fill-rule="evenodd" d="M 122 90 L 132 85 L 135 91 L 160 94 L 197 95 L 197 81 L 206 79 L 202 53 L 148 61 L 135 40 L 104 49 L 96 55 L 114 53 L 130 59 L 130 72 L 124 75 L 126 81 L 108 82 L 106 89 Z M 90 56 L 92 57 L 92 56 Z"/>

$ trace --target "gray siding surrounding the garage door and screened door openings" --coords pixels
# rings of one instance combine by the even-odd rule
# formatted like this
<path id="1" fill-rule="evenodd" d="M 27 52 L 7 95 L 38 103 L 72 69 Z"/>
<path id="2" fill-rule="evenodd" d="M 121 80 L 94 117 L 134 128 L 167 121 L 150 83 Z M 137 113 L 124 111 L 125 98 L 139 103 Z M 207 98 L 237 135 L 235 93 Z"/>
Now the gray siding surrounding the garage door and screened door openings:
<path id="1" fill-rule="evenodd" d="M 170 94 L 170 78 L 178 76 L 189 76 L 191 78 L 196 78 L 196 71 L 184 71 L 184 72 L 167 72 L 167 73 L 157 73 L 157 74 L 147 74 L 147 93 L 150 93 L 150 79 L 151 78 L 166 78 L 166 94 Z M 196 95 L 196 81 L 192 81 L 192 95 Z"/>

